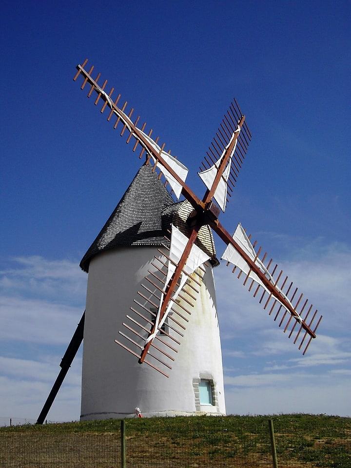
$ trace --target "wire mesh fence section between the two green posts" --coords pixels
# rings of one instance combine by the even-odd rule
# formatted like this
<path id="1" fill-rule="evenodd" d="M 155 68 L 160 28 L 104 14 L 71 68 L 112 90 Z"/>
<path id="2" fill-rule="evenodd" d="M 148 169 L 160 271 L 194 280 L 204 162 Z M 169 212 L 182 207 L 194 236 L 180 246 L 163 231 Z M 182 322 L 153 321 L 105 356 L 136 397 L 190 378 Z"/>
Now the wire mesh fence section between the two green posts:
<path id="1" fill-rule="evenodd" d="M 154 428 L 149 440 L 140 427 L 127 444 L 127 460 L 135 468 L 272 467 L 267 422 L 254 432 L 228 422 L 218 419 L 205 428 L 200 420 L 187 421 L 176 430 L 166 424 Z"/>

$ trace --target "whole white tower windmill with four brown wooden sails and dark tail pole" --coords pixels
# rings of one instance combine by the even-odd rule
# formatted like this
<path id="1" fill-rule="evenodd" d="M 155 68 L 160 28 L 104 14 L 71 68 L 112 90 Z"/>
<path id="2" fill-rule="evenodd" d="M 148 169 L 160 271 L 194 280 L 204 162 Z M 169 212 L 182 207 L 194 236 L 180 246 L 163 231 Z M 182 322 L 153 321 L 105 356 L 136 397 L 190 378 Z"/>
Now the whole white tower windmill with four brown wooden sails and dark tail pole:
<path id="1" fill-rule="evenodd" d="M 132 120 L 127 102 L 119 107 L 120 95 L 113 99 L 114 88 L 107 93 L 107 80 L 100 86 L 100 74 L 93 78 L 86 64 L 74 80 L 83 78 L 81 89 L 88 85 L 88 97 L 146 160 L 80 263 L 89 273 L 86 311 L 38 423 L 83 336 L 81 419 L 131 416 L 134 408 L 225 414 L 213 233 L 226 245 L 221 259 L 303 354 L 322 318 L 240 224 L 232 236 L 218 219 L 252 137 L 245 116 L 234 99 L 198 173 L 206 186 L 201 199 L 186 183 L 186 166 L 145 132 L 146 123 L 138 126 L 139 117 Z"/>

